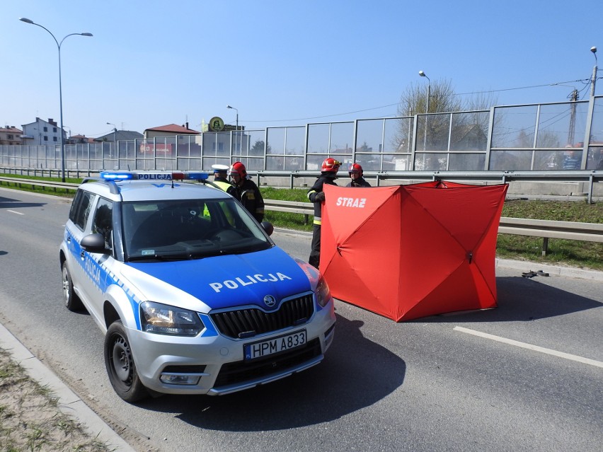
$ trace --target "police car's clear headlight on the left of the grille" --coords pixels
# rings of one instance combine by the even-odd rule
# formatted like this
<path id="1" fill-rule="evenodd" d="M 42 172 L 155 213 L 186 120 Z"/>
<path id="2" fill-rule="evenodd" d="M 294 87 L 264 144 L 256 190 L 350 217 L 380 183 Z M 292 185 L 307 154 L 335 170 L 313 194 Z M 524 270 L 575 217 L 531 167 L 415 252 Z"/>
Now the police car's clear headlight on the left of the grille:
<path id="1" fill-rule="evenodd" d="M 140 314 L 142 330 L 158 335 L 196 336 L 205 328 L 194 311 L 153 301 L 141 303 Z"/>

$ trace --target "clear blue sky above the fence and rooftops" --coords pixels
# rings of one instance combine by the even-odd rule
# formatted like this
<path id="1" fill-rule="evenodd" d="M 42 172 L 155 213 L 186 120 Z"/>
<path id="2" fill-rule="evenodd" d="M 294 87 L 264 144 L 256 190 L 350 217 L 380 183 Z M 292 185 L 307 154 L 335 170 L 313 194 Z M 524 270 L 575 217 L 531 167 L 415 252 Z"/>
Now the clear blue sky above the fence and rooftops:
<path id="1" fill-rule="evenodd" d="M 587 99 L 602 17 L 567 0 L 2 0 L 0 127 L 59 123 L 50 33 L 93 34 L 60 56 L 64 127 L 94 138 L 237 111 L 248 130 L 394 117 L 437 81 L 495 105 Z"/>

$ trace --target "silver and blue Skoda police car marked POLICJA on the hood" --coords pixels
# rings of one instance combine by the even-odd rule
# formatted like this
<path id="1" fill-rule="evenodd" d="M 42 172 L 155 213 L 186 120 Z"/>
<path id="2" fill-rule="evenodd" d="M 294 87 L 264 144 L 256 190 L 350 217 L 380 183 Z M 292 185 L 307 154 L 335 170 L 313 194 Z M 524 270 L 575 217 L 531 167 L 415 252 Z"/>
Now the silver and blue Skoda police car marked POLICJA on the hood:
<path id="1" fill-rule="evenodd" d="M 321 274 L 211 183 L 103 172 L 71 204 L 64 303 L 105 333 L 109 380 L 127 402 L 252 388 L 318 364 L 333 340 Z"/>

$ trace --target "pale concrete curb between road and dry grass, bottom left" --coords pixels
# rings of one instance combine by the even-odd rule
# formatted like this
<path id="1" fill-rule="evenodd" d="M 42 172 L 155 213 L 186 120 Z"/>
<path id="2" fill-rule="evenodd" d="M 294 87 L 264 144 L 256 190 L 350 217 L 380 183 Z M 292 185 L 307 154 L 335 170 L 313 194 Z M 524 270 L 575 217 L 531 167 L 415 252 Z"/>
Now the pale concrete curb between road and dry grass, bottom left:
<path id="1" fill-rule="evenodd" d="M 50 389 L 52 395 L 58 400 L 58 409 L 79 421 L 92 438 L 103 441 L 111 451 L 134 452 L 134 448 L 130 444 L 127 444 L 96 412 L 86 405 L 84 400 L 81 400 L 54 372 L 42 364 L 42 361 L 36 358 L 25 345 L 1 324 L 0 347 L 11 354 L 11 359 L 23 367 L 30 378 Z"/>

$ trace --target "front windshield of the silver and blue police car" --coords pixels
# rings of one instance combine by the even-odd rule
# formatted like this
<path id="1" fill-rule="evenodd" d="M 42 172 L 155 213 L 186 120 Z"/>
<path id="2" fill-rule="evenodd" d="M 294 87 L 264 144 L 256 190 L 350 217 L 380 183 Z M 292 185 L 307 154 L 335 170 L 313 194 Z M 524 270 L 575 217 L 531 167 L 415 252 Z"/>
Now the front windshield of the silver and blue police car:
<path id="1" fill-rule="evenodd" d="M 123 202 L 126 260 L 253 253 L 272 241 L 233 199 Z"/>

